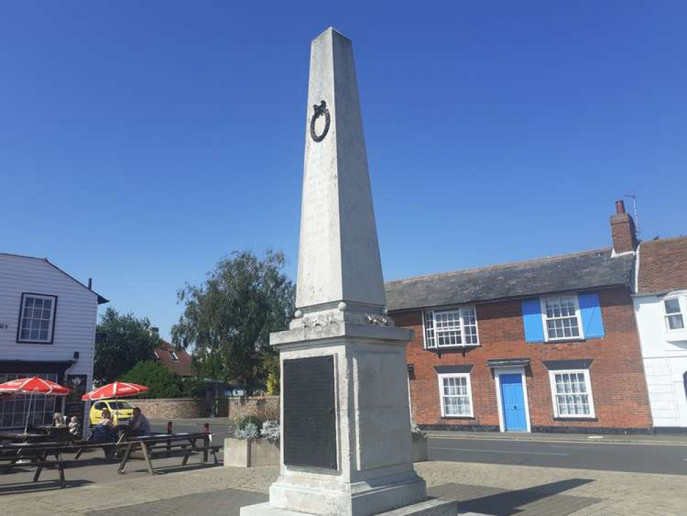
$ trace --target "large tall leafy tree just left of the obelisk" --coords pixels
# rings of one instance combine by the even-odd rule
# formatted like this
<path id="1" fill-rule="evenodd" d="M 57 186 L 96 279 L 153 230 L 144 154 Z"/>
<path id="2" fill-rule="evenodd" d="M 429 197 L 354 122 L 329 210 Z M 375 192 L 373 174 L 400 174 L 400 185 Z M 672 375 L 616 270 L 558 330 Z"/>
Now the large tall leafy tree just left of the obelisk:
<path id="1" fill-rule="evenodd" d="M 282 252 L 235 252 L 202 285 L 179 290 L 185 307 L 172 341 L 193 347 L 196 374 L 238 381 L 250 391 L 265 385 L 264 359 L 274 355 L 270 332 L 284 330 L 294 312 L 294 283 L 284 265 Z"/>

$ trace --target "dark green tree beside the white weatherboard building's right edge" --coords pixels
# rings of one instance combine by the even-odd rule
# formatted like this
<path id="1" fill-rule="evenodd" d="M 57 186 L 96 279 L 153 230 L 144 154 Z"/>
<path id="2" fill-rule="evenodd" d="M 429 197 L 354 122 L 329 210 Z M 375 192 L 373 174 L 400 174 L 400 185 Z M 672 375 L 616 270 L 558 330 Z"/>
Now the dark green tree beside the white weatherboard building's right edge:
<path id="1" fill-rule="evenodd" d="M 98 332 L 106 335 L 105 341 L 96 343 L 94 358 L 93 375 L 100 383 L 112 382 L 139 361 L 153 358 L 153 350 L 162 344 L 148 319 L 120 314 L 114 308 L 102 314 Z"/>

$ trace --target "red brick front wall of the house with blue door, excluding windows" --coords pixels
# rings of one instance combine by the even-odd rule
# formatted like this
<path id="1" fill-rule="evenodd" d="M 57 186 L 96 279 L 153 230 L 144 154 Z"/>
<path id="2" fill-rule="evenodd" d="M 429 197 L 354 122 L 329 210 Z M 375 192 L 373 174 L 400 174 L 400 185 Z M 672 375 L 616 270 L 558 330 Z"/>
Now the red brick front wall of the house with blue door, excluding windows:
<path id="1" fill-rule="evenodd" d="M 465 430 L 499 430 L 497 387 L 488 359 L 530 358 L 525 371 L 527 404 L 532 431 L 651 431 L 646 380 L 639 337 L 629 290 L 614 288 L 598 291 L 606 336 L 566 343 L 525 343 L 521 301 L 484 303 L 476 306 L 481 346 L 461 350 L 442 350 L 441 356 L 423 349 L 422 312 L 396 312 L 396 325 L 415 330 L 407 347 L 408 364 L 413 364 L 411 379 L 413 419 L 426 427 Z M 593 359 L 589 374 L 594 420 L 554 420 L 549 370 L 542 361 L 576 358 Z M 435 365 L 472 364 L 470 382 L 474 418 L 442 418 Z"/>

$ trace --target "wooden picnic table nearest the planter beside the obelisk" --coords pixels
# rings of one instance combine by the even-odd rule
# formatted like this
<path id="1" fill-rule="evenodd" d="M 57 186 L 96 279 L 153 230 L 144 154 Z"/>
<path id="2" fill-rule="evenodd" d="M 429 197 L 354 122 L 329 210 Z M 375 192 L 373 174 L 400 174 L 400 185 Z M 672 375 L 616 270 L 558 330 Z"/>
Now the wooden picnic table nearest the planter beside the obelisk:
<path id="1" fill-rule="evenodd" d="M 129 458 L 131 458 L 131 452 L 137 448 L 140 448 L 143 452 L 143 458 L 148 466 L 148 471 L 151 475 L 155 475 L 155 469 L 153 469 L 152 455 L 155 448 L 164 449 L 168 453 L 171 449 L 182 449 L 184 450 L 184 460 L 182 460 L 182 465 L 186 465 L 190 454 L 194 451 L 203 452 L 203 462 L 208 461 L 208 452 L 212 453 L 215 464 L 217 464 L 217 451 L 219 446 L 212 446 L 210 444 L 210 433 L 197 432 L 197 433 L 157 433 L 153 436 L 127 436 L 127 440 L 120 442 L 119 445 L 124 447 L 124 455 L 122 456 L 122 461 L 119 464 L 119 469 L 117 473 L 122 475 L 124 473 L 124 467 L 127 465 Z M 198 441 L 201 440 L 201 446 L 198 445 Z"/>

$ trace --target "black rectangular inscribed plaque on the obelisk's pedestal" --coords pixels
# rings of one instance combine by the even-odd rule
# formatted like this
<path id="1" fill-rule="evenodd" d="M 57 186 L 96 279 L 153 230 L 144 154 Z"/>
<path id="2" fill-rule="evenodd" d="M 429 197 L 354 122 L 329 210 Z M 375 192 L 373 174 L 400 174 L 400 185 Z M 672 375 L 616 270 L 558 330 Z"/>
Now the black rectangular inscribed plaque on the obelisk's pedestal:
<path id="1" fill-rule="evenodd" d="M 336 469 L 334 356 L 285 360 L 282 381 L 284 464 Z"/>

